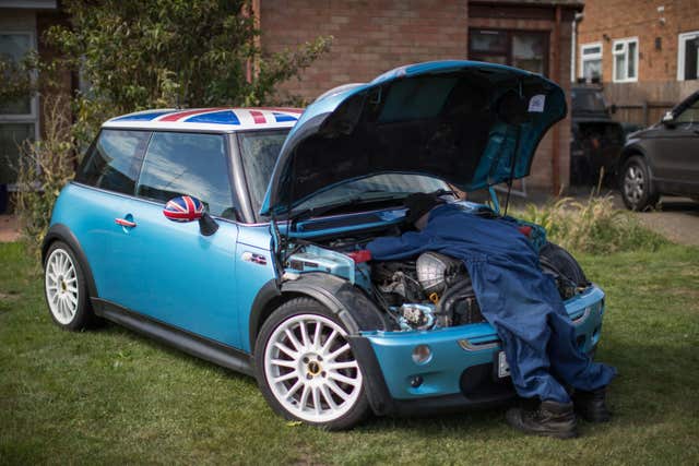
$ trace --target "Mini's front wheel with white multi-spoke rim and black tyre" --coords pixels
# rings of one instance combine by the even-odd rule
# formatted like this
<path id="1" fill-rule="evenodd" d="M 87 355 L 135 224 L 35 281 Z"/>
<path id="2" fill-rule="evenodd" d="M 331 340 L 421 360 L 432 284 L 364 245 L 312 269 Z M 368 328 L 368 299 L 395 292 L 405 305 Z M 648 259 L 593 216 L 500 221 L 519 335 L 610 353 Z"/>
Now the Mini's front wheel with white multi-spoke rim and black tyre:
<path id="1" fill-rule="evenodd" d="M 286 419 L 348 429 L 369 410 L 347 331 L 320 302 L 295 298 L 264 322 L 254 346 L 262 394 Z"/>

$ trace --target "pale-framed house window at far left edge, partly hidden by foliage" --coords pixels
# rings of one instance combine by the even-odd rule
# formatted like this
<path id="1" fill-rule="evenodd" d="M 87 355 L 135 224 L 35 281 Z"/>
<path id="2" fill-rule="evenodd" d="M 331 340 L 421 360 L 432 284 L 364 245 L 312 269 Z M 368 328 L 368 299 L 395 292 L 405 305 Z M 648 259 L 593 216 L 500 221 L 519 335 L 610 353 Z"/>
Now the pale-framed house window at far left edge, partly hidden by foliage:
<path id="1" fill-rule="evenodd" d="M 34 33 L 0 32 L 0 58 L 19 63 L 36 47 Z M 0 76 L 1 79 L 1 76 Z M 20 144 L 37 138 L 37 101 L 31 95 L 0 104 L 0 184 L 14 188 Z"/>

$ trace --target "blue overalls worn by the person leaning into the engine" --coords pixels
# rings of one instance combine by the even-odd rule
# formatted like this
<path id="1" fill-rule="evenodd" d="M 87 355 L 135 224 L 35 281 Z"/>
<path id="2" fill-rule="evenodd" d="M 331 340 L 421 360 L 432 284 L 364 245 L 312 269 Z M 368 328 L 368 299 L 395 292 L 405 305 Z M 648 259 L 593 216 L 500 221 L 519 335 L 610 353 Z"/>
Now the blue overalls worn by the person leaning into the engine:
<path id="1" fill-rule="evenodd" d="M 436 251 L 463 260 L 483 316 L 496 328 L 517 393 L 525 398 L 569 403 L 562 384 L 593 391 L 616 375 L 576 345 L 576 332 L 554 280 L 517 223 L 484 218 L 455 205 L 440 205 L 422 231 L 377 238 L 374 260 L 391 261 Z"/>

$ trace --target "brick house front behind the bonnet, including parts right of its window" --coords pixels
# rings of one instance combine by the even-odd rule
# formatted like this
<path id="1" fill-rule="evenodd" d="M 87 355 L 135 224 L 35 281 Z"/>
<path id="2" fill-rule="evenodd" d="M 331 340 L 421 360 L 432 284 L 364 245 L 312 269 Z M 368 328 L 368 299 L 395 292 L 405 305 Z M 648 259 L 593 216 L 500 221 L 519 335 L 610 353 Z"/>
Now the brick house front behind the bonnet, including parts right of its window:
<path id="1" fill-rule="evenodd" d="M 478 9 L 477 17 L 469 17 L 469 3 Z M 331 51 L 299 80 L 280 86 L 281 96 L 296 94 L 311 100 L 329 88 L 366 82 L 401 64 L 467 58 L 469 27 L 548 33 L 548 75 L 559 81 L 567 94 L 570 87 L 571 9 L 561 9 L 555 61 L 555 8 L 550 5 L 467 0 L 258 0 L 257 5 L 261 45 L 266 50 L 294 48 L 319 35 L 334 36 Z M 554 76 L 557 70 L 560 77 Z M 557 132 L 558 180 L 566 186 L 570 164 L 568 118 L 558 123 Z M 528 190 L 552 191 L 554 152 L 552 131 L 540 145 L 532 176 L 526 180 Z"/>

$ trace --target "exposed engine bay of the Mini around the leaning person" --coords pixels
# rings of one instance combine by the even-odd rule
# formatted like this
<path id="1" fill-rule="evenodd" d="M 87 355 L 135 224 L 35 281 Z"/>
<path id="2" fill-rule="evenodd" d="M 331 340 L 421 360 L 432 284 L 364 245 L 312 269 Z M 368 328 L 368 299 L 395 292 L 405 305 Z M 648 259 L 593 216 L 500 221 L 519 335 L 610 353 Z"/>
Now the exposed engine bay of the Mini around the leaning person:
<path id="1" fill-rule="evenodd" d="M 354 254 L 377 236 L 400 235 L 398 226 L 325 242 L 299 241 L 285 262 L 285 276 L 321 272 L 341 276 L 362 288 L 395 323 L 395 330 L 426 331 L 486 322 L 464 264 L 438 252 L 401 261 L 357 260 Z M 556 283 L 561 299 L 590 283 L 578 262 L 562 248 L 546 242 L 540 249 L 543 272 Z"/>

